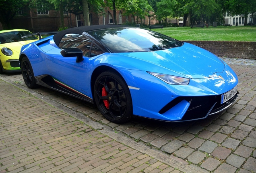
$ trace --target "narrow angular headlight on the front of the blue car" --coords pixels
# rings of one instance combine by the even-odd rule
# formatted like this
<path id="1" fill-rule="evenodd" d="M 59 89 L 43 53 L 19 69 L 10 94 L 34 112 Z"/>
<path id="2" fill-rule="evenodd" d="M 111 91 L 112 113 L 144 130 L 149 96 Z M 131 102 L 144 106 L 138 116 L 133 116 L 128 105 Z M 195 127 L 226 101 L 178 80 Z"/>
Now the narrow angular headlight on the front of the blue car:
<path id="1" fill-rule="evenodd" d="M 178 76 L 171 76 L 168 74 L 161 74 L 161 73 L 155 73 L 155 72 L 148 72 L 149 74 L 152 74 L 153 76 L 156 76 L 157 78 L 165 81 L 167 84 L 177 84 L 177 85 L 188 85 L 190 79 L 189 78 L 183 78 Z"/>

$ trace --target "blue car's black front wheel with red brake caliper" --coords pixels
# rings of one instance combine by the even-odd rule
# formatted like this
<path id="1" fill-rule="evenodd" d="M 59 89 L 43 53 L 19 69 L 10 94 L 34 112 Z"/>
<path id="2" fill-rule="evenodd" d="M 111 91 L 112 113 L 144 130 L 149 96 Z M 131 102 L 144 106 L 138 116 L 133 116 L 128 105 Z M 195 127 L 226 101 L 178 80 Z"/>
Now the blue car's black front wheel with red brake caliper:
<path id="1" fill-rule="evenodd" d="M 94 85 L 95 103 L 102 115 L 113 123 L 124 123 L 132 117 L 132 97 L 120 74 L 101 73 Z"/>

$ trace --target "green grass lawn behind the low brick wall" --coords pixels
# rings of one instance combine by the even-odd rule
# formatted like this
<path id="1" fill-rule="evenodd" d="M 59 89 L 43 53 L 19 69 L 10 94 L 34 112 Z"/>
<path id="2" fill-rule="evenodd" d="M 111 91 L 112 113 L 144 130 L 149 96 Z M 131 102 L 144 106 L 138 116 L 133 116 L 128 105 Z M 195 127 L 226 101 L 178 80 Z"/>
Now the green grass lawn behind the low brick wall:
<path id="1" fill-rule="evenodd" d="M 256 41 L 256 27 L 210 26 L 209 28 L 170 27 L 151 29 L 177 40 L 194 41 Z"/>

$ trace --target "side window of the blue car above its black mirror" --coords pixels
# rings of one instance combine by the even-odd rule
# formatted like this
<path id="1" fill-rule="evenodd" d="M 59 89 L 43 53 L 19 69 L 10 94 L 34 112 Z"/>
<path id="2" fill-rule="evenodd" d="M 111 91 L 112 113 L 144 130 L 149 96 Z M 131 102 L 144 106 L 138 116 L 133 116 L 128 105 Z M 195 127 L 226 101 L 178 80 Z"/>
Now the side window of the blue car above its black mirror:
<path id="1" fill-rule="evenodd" d="M 83 56 L 93 57 L 103 52 L 87 37 L 80 34 L 66 34 L 60 41 L 59 48 L 79 48 Z M 91 55 L 89 54 L 91 50 Z"/>

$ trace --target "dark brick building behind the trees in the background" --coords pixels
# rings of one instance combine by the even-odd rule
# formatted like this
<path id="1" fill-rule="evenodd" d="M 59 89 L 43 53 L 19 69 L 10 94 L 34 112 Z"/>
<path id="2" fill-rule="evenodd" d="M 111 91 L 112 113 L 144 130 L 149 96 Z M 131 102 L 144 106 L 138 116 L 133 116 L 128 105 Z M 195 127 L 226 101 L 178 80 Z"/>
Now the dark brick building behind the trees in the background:
<path id="1" fill-rule="evenodd" d="M 90 24 L 91 25 L 103 25 L 113 24 L 113 10 L 110 8 L 105 9 L 104 15 L 98 15 L 94 12 L 90 12 Z M 136 17 L 129 15 L 123 15 L 122 10 L 116 11 L 116 17 L 118 24 L 128 24 L 137 22 Z M 146 17 L 143 20 L 138 20 L 138 23 L 149 25 L 149 19 Z M 36 8 L 25 8 L 17 13 L 17 15 L 11 20 L 11 26 L 13 29 L 27 29 L 31 32 L 48 32 L 57 31 L 60 27 L 60 14 L 56 10 L 37 11 Z M 71 28 L 84 25 L 83 14 L 75 15 L 64 12 L 64 26 Z M 156 21 L 152 18 L 151 24 L 155 24 Z M 0 30 L 3 30 L 0 23 Z"/>

